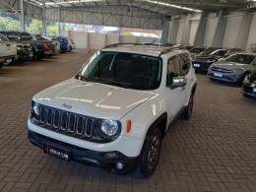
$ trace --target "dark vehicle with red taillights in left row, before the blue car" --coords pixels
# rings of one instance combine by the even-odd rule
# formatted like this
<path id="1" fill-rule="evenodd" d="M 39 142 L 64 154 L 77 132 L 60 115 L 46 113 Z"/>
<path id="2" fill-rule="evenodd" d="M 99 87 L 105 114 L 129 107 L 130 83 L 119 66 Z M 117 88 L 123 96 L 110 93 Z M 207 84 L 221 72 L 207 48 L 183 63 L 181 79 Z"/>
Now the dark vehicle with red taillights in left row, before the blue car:
<path id="1" fill-rule="evenodd" d="M 52 41 L 43 38 L 40 34 L 32 34 L 32 40 L 36 40 L 42 43 L 43 55 L 50 57 L 55 53 L 55 44 Z"/>

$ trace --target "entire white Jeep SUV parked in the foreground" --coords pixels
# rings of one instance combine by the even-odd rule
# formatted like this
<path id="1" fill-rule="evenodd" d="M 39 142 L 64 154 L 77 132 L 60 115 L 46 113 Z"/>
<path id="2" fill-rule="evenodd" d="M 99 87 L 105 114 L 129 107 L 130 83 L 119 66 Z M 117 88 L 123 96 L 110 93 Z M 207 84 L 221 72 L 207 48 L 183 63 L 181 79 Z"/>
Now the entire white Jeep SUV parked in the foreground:
<path id="1" fill-rule="evenodd" d="M 29 139 L 50 156 L 147 177 L 168 125 L 189 119 L 196 85 L 187 50 L 108 45 L 77 76 L 32 97 Z"/>

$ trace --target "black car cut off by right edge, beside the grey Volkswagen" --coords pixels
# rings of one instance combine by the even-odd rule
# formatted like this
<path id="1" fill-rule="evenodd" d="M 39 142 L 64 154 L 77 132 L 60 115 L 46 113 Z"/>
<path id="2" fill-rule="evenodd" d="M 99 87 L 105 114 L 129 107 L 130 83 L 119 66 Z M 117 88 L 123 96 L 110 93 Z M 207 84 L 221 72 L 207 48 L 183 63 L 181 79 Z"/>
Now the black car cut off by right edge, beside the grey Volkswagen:
<path id="1" fill-rule="evenodd" d="M 256 98 L 256 71 L 245 77 L 242 85 L 243 96 Z"/>

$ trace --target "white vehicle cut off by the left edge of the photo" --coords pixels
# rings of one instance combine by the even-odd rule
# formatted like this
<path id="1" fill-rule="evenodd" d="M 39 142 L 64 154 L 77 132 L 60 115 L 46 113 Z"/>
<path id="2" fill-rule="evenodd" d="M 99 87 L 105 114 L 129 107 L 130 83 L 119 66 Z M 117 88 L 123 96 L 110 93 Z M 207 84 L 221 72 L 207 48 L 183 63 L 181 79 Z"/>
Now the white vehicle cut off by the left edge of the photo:
<path id="1" fill-rule="evenodd" d="M 17 57 L 16 43 L 8 39 L 7 36 L 0 34 L 0 65 L 10 64 Z"/>

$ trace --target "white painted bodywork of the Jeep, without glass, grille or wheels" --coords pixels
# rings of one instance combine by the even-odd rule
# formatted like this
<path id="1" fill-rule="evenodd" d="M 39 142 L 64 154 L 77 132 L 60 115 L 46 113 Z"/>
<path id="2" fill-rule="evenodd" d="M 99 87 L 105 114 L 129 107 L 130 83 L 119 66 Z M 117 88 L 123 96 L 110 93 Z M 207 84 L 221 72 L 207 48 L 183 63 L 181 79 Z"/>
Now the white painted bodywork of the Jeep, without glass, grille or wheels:
<path id="1" fill-rule="evenodd" d="M 130 45 L 106 48 L 101 51 L 132 52 L 159 56 L 162 47 Z M 69 109 L 71 112 L 119 120 L 122 124 L 122 130 L 115 141 L 98 144 L 80 140 L 38 127 L 32 124 L 30 118 L 28 120 L 29 130 L 89 150 L 98 152 L 118 151 L 127 157 L 138 157 L 150 126 L 163 113 L 167 113 L 167 123 L 169 124 L 179 111 L 187 105 L 192 88 L 196 85 L 197 80 L 192 65 L 186 75 L 188 83 L 185 88 L 171 90 L 165 85 L 167 60 L 181 53 L 188 53 L 188 51 L 173 49 L 160 55 L 162 59 L 161 83 L 160 87 L 154 91 L 124 89 L 72 78 L 33 96 L 32 99 L 35 102 L 43 105 L 68 110 L 63 105 L 66 103 L 72 106 Z M 132 129 L 129 133 L 125 130 L 128 120 L 132 120 Z"/>

